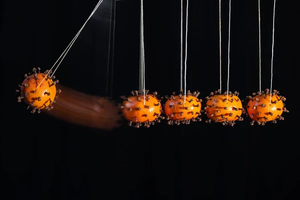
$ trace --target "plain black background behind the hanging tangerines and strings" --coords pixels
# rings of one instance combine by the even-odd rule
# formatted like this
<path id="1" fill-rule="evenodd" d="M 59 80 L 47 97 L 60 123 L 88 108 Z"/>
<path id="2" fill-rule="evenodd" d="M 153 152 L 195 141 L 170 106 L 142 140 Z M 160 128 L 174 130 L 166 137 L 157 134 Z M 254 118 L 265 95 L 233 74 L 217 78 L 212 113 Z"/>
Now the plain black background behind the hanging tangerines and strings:
<path id="1" fill-rule="evenodd" d="M 30 114 L 18 78 L 50 68 L 97 0 L 6 0 L 1 5 L 1 199 L 291 199 L 298 193 L 298 26 L 295 1 L 277 0 L 273 87 L 285 120 L 104 132 Z M 101 12 L 99 10 L 108 11 Z M 60 83 L 107 95 L 109 3 L 100 5 L 56 72 Z M 272 0 L 261 0 L 261 86 L 270 87 Z M 139 1 L 116 2 L 112 95 L 138 89 Z M 187 89 L 219 87 L 218 1 L 190 0 Z M 179 89 L 180 1 L 144 1 L 146 89 Z M 222 88 L 227 81 L 228 0 L 222 1 Z M 229 90 L 259 89 L 257 0 L 232 0 Z M 108 78 L 109 80 L 111 77 Z M 108 80 L 108 81 L 109 81 Z M 205 116 L 203 117 L 205 119 Z M 8 196 L 5 196 L 8 194 Z M 293 198 L 295 199 L 295 198 Z"/>

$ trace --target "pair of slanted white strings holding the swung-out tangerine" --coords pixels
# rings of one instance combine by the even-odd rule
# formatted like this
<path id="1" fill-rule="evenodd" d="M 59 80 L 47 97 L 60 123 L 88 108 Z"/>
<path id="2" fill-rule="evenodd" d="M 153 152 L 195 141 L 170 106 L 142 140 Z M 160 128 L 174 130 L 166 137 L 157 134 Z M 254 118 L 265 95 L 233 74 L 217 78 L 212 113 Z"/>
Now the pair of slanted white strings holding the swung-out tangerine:
<path id="1" fill-rule="evenodd" d="M 90 15 L 88 16 L 88 18 L 86 19 L 86 21 L 84 22 L 84 24 L 82 25 L 82 27 L 79 29 L 79 31 L 77 32 L 77 34 L 74 36 L 74 38 L 71 40 L 71 42 L 67 45 L 67 47 L 64 49 L 64 51 L 61 53 L 61 55 L 58 57 L 58 59 L 56 60 L 56 62 L 53 64 L 53 66 L 49 69 L 49 71 L 47 72 L 47 74 L 45 75 L 45 77 L 40 81 L 40 83 L 37 85 L 37 87 L 42 83 L 42 81 L 47 77 L 47 75 L 50 73 L 50 71 L 52 70 L 52 68 L 55 66 L 55 64 L 58 62 L 58 60 L 61 58 L 61 60 L 59 61 L 59 63 L 57 64 L 55 70 L 53 71 L 53 73 L 51 74 L 50 78 L 54 75 L 55 71 L 57 70 L 58 66 L 60 65 L 61 61 L 63 60 L 63 58 L 65 57 L 66 53 L 69 51 L 69 49 L 71 48 L 71 46 L 73 45 L 73 43 L 75 42 L 75 40 L 77 39 L 78 35 L 80 34 L 80 32 L 82 31 L 83 27 L 85 26 L 85 24 L 87 23 L 87 21 L 90 19 L 90 17 L 93 15 L 93 13 L 96 11 L 96 9 L 99 7 L 99 5 L 101 4 L 103 0 L 99 0 L 98 3 L 96 4 L 95 8 L 93 9 L 93 11 L 90 13 Z M 36 87 L 36 88 L 37 88 Z"/>

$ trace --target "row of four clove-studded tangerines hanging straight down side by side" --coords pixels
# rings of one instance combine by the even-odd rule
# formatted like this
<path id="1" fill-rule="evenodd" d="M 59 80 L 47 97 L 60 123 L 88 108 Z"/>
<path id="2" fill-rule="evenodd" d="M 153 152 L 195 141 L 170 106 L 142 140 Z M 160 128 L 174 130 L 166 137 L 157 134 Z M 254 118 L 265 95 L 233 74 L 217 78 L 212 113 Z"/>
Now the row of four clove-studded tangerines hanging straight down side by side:
<path id="1" fill-rule="evenodd" d="M 149 127 L 160 119 L 166 119 L 168 124 L 189 124 L 190 121 L 201 121 L 201 113 L 207 116 L 206 122 L 209 123 L 214 121 L 233 126 L 236 120 L 243 120 L 242 114 L 246 114 L 251 125 L 254 122 L 264 125 L 267 121 L 283 120 L 282 112 L 288 112 L 284 107 L 285 97 L 278 95 L 277 90 L 258 91 L 246 96 L 245 100 L 240 100 L 236 91 L 221 93 L 216 90 L 205 97 L 203 106 L 202 100 L 197 98 L 199 93 L 187 91 L 184 95 L 181 90 L 177 95 L 173 92 L 170 96 L 160 97 L 157 92 L 150 94 L 146 90 L 141 94 L 135 90 L 129 97 L 121 96 L 123 101 L 119 107 L 129 125 L 134 123 L 134 127 Z"/>

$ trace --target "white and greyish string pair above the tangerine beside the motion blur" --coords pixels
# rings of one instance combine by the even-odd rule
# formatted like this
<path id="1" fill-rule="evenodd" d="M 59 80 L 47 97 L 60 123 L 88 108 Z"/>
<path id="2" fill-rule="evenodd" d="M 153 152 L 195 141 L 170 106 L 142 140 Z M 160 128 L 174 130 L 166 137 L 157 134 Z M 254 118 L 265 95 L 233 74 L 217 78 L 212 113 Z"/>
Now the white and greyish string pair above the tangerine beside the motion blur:
<path id="1" fill-rule="evenodd" d="M 145 61 L 144 61 L 144 38 L 143 38 L 143 0 L 140 0 L 140 63 L 139 63 L 139 91 L 143 93 L 145 104 Z"/>

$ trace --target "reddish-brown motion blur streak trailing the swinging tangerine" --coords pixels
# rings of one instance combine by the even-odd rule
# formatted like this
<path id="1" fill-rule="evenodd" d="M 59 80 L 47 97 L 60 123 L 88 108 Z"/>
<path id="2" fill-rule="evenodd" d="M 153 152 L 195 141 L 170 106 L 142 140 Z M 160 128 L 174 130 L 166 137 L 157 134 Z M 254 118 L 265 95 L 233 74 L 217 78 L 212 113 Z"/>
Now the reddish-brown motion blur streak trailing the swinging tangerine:
<path id="1" fill-rule="evenodd" d="M 61 89 L 61 93 L 54 108 L 46 111 L 47 114 L 92 128 L 112 130 L 120 126 L 122 116 L 119 108 L 108 98 L 79 92 L 61 84 L 57 84 L 57 89 Z"/>

